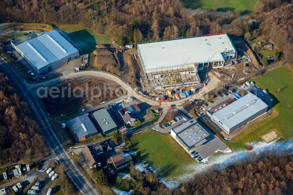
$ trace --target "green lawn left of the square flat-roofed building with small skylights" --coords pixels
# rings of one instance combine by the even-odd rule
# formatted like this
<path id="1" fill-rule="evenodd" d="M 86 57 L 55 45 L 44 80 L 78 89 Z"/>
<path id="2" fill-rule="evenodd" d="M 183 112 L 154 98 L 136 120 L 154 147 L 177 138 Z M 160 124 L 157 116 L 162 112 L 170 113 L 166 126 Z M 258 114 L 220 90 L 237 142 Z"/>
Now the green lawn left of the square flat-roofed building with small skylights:
<path id="1" fill-rule="evenodd" d="M 147 161 L 162 177 L 182 175 L 187 165 L 194 163 L 188 153 L 169 134 L 148 130 L 130 138 L 130 149 L 137 152 L 134 162 Z"/>

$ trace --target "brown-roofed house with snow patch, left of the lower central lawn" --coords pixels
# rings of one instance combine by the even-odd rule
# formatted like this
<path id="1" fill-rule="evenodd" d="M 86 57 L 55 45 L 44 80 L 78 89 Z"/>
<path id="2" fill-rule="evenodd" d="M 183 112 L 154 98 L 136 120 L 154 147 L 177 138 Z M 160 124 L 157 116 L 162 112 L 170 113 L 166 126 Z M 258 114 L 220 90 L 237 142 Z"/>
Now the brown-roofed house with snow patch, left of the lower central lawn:
<path id="1" fill-rule="evenodd" d="M 133 159 L 129 153 L 117 153 L 108 158 L 108 163 L 112 163 L 117 170 L 127 167 L 131 162 Z"/>

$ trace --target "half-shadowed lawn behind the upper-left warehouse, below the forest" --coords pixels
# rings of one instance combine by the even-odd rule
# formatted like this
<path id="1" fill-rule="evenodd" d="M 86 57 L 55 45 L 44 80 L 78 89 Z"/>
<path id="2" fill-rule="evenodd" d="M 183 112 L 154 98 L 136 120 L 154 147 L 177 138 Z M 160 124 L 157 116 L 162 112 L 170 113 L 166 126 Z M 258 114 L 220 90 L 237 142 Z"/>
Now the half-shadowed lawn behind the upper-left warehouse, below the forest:
<path id="1" fill-rule="evenodd" d="M 78 47 L 83 54 L 93 52 L 97 44 L 112 43 L 109 37 L 99 35 L 90 28 L 80 25 L 60 24 L 56 25 L 56 27 L 64 31 L 63 36 Z"/>

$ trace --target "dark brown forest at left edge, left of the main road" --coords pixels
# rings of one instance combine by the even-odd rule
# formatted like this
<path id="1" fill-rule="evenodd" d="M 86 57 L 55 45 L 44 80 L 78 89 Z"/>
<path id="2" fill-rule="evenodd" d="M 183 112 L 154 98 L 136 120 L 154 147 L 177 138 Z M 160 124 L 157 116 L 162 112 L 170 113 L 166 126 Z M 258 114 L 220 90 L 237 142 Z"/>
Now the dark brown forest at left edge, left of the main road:
<path id="1" fill-rule="evenodd" d="M 0 164 L 18 160 L 30 163 L 49 152 L 40 126 L 30 117 L 28 105 L 0 73 Z"/>

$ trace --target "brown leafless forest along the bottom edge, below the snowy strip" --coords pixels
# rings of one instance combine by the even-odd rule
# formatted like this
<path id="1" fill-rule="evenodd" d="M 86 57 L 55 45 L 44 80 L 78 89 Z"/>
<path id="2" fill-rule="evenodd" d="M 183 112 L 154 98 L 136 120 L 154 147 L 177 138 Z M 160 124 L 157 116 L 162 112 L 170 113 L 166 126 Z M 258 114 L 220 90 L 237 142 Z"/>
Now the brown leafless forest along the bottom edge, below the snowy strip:
<path id="1" fill-rule="evenodd" d="M 235 162 L 236 165 L 226 168 L 215 165 L 173 190 L 160 183 L 156 173 L 140 172 L 130 165 L 130 175 L 135 181 L 131 194 L 292 194 L 293 155 L 288 153 L 251 153 L 248 159 Z"/>

